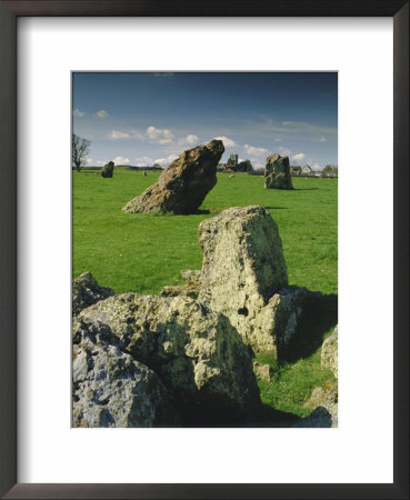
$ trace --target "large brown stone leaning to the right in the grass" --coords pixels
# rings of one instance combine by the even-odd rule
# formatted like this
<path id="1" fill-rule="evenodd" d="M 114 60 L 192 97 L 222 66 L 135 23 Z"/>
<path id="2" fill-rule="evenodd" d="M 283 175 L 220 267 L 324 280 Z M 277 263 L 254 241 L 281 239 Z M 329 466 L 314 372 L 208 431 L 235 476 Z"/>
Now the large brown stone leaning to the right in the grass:
<path id="1" fill-rule="evenodd" d="M 222 141 L 184 151 L 142 194 L 129 201 L 130 213 L 194 213 L 217 183 L 217 166 L 222 157 Z"/>

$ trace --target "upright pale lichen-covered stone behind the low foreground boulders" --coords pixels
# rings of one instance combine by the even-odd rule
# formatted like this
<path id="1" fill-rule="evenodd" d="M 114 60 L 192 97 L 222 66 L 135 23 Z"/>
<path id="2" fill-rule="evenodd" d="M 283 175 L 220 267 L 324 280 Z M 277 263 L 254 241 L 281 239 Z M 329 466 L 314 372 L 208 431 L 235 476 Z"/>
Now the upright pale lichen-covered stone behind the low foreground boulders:
<path id="1" fill-rule="evenodd" d="M 260 206 L 234 207 L 201 222 L 199 300 L 226 314 L 256 354 L 278 356 L 297 330 L 309 294 L 288 287 L 278 226 Z"/>

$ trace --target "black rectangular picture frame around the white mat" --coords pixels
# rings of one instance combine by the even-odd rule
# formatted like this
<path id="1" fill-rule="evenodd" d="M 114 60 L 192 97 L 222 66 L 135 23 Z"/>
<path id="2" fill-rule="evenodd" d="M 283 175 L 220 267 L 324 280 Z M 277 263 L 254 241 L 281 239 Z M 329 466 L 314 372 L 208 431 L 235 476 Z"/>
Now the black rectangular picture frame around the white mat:
<path id="1" fill-rule="evenodd" d="M 17 19 L 21 16 L 393 18 L 394 461 L 388 484 L 17 483 Z M 0 494 L 7 499 L 409 498 L 409 1 L 12 0 L 0 1 Z M 382 71 L 382 69 L 381 69 Z M 377 418 L 374 414 L 368 418 Z M 377 439 L 377 437 L 374 438 Z"/>

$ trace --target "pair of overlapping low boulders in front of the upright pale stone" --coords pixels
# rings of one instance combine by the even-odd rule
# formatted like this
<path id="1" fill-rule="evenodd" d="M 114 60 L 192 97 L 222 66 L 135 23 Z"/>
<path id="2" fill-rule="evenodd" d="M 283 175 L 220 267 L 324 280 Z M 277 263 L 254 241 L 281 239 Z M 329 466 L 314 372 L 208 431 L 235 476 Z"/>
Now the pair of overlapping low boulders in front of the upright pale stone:
<path id="1" fill-rule="evenodd" d="M 73 344 L 74 423 L 158 426 L 163 416 L 176 422 L 179 414 L 184 426 L 221 424 L 259 410 L 252 360 L 240 336 L 228 318 L 192 299 L 111 297 L 76 318 Z M 139 404 L 146 410 L 132 413 Z"/>

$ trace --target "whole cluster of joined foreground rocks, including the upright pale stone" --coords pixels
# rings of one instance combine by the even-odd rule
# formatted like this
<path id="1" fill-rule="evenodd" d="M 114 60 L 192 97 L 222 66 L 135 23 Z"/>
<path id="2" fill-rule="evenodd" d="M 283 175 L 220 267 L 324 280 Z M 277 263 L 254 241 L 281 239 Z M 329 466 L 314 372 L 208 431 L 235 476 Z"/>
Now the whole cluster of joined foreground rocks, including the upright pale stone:
<path id="1" fill-rule="evenodd" d="M 280 357 L 309 292 L 289 288 L 278 227 L 262 207 L 204 220 L 198 239 L 202 269 L 182 271 L 186 284 L 164 287 L 162 297 L 116 296 L 90 273 L 76 281 L 74 426 L 258 418 L 253 370 L 266 379 L 270 373 L 252 366 L 252 350 Z"/>

